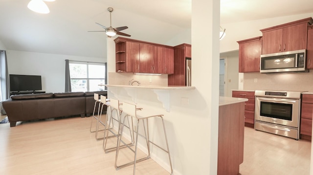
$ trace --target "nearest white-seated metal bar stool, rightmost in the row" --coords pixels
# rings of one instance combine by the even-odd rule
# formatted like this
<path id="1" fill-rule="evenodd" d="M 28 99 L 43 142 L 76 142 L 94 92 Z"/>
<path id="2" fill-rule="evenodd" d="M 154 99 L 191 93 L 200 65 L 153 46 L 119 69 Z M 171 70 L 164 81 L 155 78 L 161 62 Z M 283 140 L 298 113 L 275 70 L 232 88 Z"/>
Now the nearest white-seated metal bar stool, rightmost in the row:
<path id="1" fill-rule="evenodd" d="M 150 143 L 152 143 L 157 148 L 163 150 L 165 153 L 168 154 L 168 158 L 169 158 L 169 162 L 170 162 L 170 166 L 171 166 L 171 175 L 173 175 L 173 167 L 172 167 L 170 151 L 169 151 L 169 148 L 168 148 L 168 141 L 167 141 L 167 136 L 166 136 L 166 131 L 165 131 L 165 124 L 164 124 L 164 120 L 163 120 L 163 115 L 151 115 L 151 116 L 150 115 L 146 115 L 146 114 L 144 114 L 144 111 L 136 110 L 136 105 L 130 104 L 130 103 L 126 103 L 126 102 L 123 103 L 123 113 L 125 113 L 126 115 L 125 115 L 125 117 L 123 119 L 122 128 L 121 128 L 121 134 L 120 134 L 120 136 L 118 137 L 118 140 L 117 140 L 117 149 L 116 149 L 116 156 L 115 156 L 115 168 L 116 168 L 116 170 L 119 170 L 119 169 L 121 169 L 123 167 L 126 167 L 126 166 L 134 164 L 133 175 L 135 175 L 136 162 L 140 162 L 140 161 L 147 160 L 147 159 L 150 158 Z M 133 148 L 131 148 L 130 146 L 128 146 L 127 144 L 125 144 L 125 142 L 122 140 L 124 124 L 125 124 L 125 118 L 128 117 L 128 116 L 130 116 L 130 117 L 132 117 L 132 118 L 137 120 L 137 129 L 135 130 L 135 133 L 136 133 L 135 150 Z M 147 117 L 143 117 L 143 116 L 147 116 Z M 158 118 L 160 118 L 162 120 L 164 136 L 165 136 L 165 141 L 166 141 L 166 150 L 161 148 L 160 146 L 156 145 L 155 143 L 153 143 L 152 141 L 149 140 L 148 119 L 152 118 L 152 117 L 158 117 Z M 145 136 L 142 136 L 142 135 L 138 134 L 139 133 L 138 130 L 139 130 L 139 123 L 140 123 L 139 121 L 140 120 L 142 121 L 142 124 L 143 124 L 143 129 L 144 129 L 144 135 Z M 146 120 L 146 123 L 147 123 L 147 129 L 146 129 L 146 126 L 145 126 L 145 120 Z M 140 158 L 140 159 L 137 160 L 138 135 L 140 135 L 140 136 L 142 136 L 142 137 L 144 137 L 146 139 L 146 144 L 147 144 L 147 149 L 148 149 L 148 156 Z M 130 150 L 132 150 L 134 152 L 134 161 L 126 163 L 126 164 L 123 164 L 123 165 L 120 165 L 120 166 L 117 166 L 117 158 L 118 158 L 119 149 L 121 147 L 120 146 L 121 143 L 123 143 L 125 146 L 127 146 Z"/>

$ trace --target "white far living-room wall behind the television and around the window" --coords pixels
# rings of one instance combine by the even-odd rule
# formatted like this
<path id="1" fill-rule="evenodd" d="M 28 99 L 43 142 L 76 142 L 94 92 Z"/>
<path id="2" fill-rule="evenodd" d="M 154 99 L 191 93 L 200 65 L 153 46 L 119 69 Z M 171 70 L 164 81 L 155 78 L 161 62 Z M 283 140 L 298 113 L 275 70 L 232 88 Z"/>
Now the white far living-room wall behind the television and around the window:
<path id="1" fill-rule="evenodd" d="M 42 88 L 47 93 L 65 91 L 65 59 L 75 61 L 106 62 L 104 58 L 77 57 L 8 50 L 9 74 L 42 76 Z"/>

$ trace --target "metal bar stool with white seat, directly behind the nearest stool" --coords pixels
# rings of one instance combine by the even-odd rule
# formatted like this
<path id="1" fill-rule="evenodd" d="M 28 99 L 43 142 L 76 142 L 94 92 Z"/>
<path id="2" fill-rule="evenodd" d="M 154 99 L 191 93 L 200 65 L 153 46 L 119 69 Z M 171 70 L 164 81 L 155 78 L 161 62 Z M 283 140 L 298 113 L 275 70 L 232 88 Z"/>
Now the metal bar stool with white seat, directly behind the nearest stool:
<path id="1" fill-rule="evenodd" d="M 105 125 L 108 126 L 108 129 L 106 129 L 108 131 L 107 132 L 106 132 L 106 130 L 104 131 L 104 139 L 103 139 L 103 149 L 104 149 L 105 153 L 109 153 L 109 152 L 112 152 L 112 151 L 116 150 L 116 146 L 115 147 L 111 147 L 111 148 L 106 148 L 106 146 L 107 146 L 108 138 L 115 136 L 118 139 L 118 137 L 121 134 L 121 114 L 122 114 L 122 111 L 123 111 L 121 105 L 122 104 L 120 104 L 119 100 L 117 100 L 117 99 L 113 99 L 112 98 L 110 100 L 111 115 L 110 115 L 110 118 L 107 117 L 107 119 L 106 119 L 106 124 Z M 116 111 L 117 119 L 113 118 L 113 116 L 112 116 L 113 111 Z M 117 133 L 114 132 L 113 126 L 112 126 L 112 128 L 110 128 L 111 123 L 113 124 L 113 119 L 119 123 L 118 124 L 118 131 L 117 131 Z M 109 123 L 108 123 L 108 120 L 110 120 Z M 128 126 L 126 126 L 126 127 L 129 129 L 129 132 L 130 132 L 131 143 L 129 143 L 127 145 L 133 145 L 134 144 L 134 141 L 133 141 L 134 133 L 131 130 L 130 126 L 131 125 L 130 125 L 130 122 L 128 120 Z M 132 126 L 133 126 L 133 121 L 132 121 Z M 109 136 L 109 132 L 111 132 L 113 136 Z M 126 146 L 124 146 L 124 147 L 126 147 Z"/>

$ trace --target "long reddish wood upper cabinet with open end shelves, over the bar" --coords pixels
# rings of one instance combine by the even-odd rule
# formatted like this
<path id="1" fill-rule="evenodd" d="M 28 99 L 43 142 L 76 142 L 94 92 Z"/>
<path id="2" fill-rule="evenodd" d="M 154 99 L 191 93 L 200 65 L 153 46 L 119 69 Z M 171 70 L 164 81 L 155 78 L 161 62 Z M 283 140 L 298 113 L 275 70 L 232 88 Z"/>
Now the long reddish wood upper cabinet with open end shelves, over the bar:
<path id="1" fill-rule="evenodd" d="M 116 72 L 174 73 L 174 48 L 135 39 L 115 41 Z"/>

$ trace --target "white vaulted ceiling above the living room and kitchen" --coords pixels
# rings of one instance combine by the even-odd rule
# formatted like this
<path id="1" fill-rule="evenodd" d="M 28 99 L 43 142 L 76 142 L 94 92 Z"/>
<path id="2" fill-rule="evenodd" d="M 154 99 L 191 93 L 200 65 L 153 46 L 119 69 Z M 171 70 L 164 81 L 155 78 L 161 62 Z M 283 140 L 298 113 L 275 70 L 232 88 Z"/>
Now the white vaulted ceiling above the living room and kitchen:
<path id="1" fill-rule="evenodd" d="M 0 40 L 7 50 L 106 57 L 106 35 L 95 24 L 110 26 L 132 39 L 167 43 L 191 28 L 191 0 L 56 0 L 49 14 L 27 8 L 30 0 L 0 0 Z M 313 12 L 313 0 L 221 0 L 221 24 Z M 114 37 L 116 38 L 116 37 Z"/>

